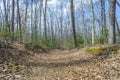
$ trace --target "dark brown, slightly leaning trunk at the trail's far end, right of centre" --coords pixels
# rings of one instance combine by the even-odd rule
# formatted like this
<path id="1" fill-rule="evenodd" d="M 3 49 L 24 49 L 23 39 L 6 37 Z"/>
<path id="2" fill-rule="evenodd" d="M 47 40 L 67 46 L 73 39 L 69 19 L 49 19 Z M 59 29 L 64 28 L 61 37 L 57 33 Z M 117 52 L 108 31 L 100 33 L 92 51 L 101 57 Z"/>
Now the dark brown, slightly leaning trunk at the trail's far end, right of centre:
<path id="1" fill-rule="evenodd" d="M 76 30 L 75 30 L 75 16 L 74 16 L 74 5 L 73 0 L 70 0 L 70 11 L 71 11 L 71 24 L 72 24 L 72 35 L 73 35 L 73 47 L 77 47 Z"/>

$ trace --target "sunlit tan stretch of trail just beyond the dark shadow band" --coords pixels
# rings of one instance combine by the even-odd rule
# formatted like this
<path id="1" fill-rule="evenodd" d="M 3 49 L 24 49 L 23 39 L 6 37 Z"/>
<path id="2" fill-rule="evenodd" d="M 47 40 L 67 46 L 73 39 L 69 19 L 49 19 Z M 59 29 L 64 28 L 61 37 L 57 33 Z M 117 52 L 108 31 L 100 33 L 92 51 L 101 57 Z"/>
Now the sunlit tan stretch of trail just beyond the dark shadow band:
<path id="1" fill-rule="evenodd" d="M 51 50 L 48 54 L 36 54 L 33 58 L 35 62 L 70 62 L 72 60 L 86 59 L 92 55 L 74 50 Z"/>

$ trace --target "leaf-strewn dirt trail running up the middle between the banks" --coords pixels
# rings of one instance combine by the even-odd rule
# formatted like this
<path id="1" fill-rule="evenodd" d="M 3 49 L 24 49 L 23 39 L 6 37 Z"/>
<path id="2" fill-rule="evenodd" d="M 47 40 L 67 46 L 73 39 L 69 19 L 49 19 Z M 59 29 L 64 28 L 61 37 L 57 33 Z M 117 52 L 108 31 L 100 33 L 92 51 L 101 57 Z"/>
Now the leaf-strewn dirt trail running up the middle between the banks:
<path id="1" fill-rule="evenodd" d="M 30 76 L 32 80 L 74 80 L 72 70 L 80 60 L 92 55 L 81 50 L 51 50 L 48 54 L 36 54 L 30 60 Z"/>

